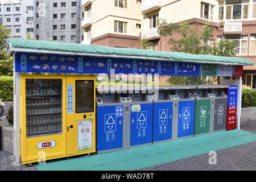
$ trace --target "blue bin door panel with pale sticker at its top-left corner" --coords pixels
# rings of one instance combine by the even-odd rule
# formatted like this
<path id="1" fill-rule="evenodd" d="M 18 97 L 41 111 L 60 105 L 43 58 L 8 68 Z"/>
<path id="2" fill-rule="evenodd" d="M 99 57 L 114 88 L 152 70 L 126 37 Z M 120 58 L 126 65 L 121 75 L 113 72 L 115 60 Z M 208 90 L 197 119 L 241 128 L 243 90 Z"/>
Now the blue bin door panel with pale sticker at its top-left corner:
<path id="1" fill-rule="evenodd" d="M 131 108 L 130 146 L 152 142 L 152 104 L 139 107 L 137 111 Z"/>

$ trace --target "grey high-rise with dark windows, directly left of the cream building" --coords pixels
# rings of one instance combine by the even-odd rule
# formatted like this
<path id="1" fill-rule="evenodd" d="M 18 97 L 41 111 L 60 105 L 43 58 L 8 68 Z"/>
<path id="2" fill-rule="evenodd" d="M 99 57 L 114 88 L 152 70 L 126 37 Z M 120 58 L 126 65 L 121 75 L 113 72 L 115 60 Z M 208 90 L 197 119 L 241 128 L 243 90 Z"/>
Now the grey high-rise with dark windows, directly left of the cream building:
<path id="1" fill-rule="evenodd" d="M 80 2 L 80 0 L 34 0 L 36 39 L 81 43 L 84 35 L 81 28 L 84 10 Z"/>

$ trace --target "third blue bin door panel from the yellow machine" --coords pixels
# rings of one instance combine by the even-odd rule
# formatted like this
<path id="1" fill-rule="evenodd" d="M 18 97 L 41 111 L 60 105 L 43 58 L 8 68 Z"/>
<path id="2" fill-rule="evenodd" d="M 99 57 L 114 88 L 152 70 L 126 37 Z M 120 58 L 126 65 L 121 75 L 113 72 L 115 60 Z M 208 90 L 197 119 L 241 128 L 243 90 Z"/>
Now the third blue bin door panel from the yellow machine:
<path id="1" fill-rule="evenodd" d="M 172 138 L 172 102 L 154 103 L 153 142 Z"/>

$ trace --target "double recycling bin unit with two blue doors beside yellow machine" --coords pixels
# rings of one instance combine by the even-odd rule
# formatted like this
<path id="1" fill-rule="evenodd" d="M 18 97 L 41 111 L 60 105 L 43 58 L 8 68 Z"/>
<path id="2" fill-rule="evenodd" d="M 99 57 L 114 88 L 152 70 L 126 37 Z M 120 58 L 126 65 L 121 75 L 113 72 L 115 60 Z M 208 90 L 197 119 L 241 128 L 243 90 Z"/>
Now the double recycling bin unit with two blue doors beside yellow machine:
<path id="1" fill-rule="evenodd" d="M 98 154 L 152 143 L 150 94 L 97 92 L 96 102 Z"/>

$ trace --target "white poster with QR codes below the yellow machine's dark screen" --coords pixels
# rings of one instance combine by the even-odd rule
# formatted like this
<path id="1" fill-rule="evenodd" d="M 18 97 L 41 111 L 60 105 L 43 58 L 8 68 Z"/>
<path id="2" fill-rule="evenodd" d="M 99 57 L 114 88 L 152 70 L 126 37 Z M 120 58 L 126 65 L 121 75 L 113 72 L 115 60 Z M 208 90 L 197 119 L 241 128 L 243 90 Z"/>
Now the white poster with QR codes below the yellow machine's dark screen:
<path id="1" fill-rule="evenodd" d="M 89 150 L 92 147 L 92 119 L 77 121 L 77 151 Z"/>

